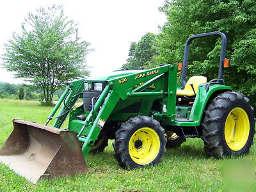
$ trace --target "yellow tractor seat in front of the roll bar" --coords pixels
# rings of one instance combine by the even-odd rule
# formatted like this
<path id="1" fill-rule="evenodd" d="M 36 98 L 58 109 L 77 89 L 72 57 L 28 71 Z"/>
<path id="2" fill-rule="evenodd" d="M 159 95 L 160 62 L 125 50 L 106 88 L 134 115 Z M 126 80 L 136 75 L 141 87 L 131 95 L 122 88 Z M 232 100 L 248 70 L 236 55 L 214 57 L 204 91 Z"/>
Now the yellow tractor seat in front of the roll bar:
<path id="1" fill-rule="evenodd" d="M 176 95 L 179 96 L 195 96 L 195 93 L 193 92 L 192 86 L 190 84 L 193 84 L 193 87 L 195 89 L 195 92 L 197 93 L 198 86 L 201 83 L 206 83 L 207 77 L 204 76 L 193 76 L 188 79 L 188 82 L 186 83 L 186 86 L 184 90 L 177 90 Z"/>

